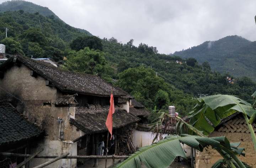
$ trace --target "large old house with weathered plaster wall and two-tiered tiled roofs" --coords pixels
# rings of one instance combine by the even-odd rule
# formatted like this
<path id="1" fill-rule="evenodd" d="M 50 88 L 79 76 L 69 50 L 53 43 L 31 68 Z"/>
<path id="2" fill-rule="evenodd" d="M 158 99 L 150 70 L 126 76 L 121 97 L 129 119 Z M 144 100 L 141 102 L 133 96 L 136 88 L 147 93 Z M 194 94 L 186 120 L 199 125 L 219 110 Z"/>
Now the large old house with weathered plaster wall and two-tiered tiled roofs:
<path id="1" fill-rule="evenodd" d="M 129 132 L 127 128 L 140 120 L 129 113 L 131 97 L 128 93 L 95 75 L 58 69 L 17 55 L 0 65 L 0 77 L 1 99 L 9 100 L 30 122 L 44 129 L 43 138 L 33 141 L 36 145 L 27 143 L 27 153 L 44 148 L 40 155 L 98 154 L 100 141 L 105 141 L 106 147 L 105 122 L 112 88 L 115 104 L 113 134 L 116 135 L 110 143 L 112 153 L 118 154 L 119 135 Z M 119 104 L 120 97 L 127 97 L 127 103 Z M 48 159 L 34 158 L 29 167 L 46 161 Z M 76 159 L 62 159 L 48 167 L 74 168 L 76 164 Z"/>

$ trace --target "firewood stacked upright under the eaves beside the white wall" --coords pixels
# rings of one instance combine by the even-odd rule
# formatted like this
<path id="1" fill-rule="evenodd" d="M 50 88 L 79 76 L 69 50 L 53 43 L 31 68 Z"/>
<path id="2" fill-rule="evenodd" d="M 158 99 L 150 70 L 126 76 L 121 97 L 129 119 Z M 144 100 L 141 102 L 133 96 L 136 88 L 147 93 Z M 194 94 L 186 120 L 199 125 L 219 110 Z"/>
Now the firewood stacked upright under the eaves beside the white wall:
<path id="1" fill-rule="evenodd" d="M 135 124 L 130 124 L 126 127 L 118 129 L 118 154 L 119 155 L 130 155 L 134 153 L 135 147 L 133 144 L 133 129 Z"/>

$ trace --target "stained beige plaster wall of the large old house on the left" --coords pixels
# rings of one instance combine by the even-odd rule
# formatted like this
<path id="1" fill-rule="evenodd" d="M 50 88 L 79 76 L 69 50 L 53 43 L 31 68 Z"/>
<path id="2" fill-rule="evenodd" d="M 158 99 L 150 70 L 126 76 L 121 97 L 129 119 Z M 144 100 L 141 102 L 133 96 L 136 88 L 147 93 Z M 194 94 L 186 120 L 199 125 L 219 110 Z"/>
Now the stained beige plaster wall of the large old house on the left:
<path id="1" fill-rule="evenodd" d="M 74 107 L 55 107 L 53 103 L 62 95 L 62 92 L 53 86 L 46 86 L 46 79 L 43 77 L 30 76 L 30 71 L 25 65 L 12 66 L 5 72 L 4 78 L 0 79 L 0 86 L 22 100 L 22 102 L 18 101 L 18 111 L 26 115 L 31 122 L 44 127 L 46 132 L 44 139 L 38 147 L 32 148 L 31 152 L 43 147 L 44 151 L 40 153 L 41 155 L 60 156 L 66 152 L 76 155 L 77 143 L 65 143 L 58 140 L 59 129 L 65 131 L 64 141 L 66 142 L 74 142 L 84 135 L 81 130 L 69 123 L 69 117 L 75 117 Z M 6 95 L 10 97 L 3 89 L 0 89 L 0 96 L 5 98 Z M 63 119 L 61 124 L 57 121 L 58 117 Z M 34 167 L 46 161 L 48 159 L 35 159 L 30 161 L 30 165 Z M 76 159 L 60 160 L 48 167 L 74 168 Z"/>

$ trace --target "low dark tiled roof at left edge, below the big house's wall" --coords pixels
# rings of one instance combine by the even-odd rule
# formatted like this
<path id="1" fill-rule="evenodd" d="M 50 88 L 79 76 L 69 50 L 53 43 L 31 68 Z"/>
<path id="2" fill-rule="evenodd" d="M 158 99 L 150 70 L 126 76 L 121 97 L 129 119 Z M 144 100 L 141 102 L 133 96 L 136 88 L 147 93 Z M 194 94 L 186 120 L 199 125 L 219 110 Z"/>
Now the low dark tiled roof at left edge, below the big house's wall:
<path id="1" fill-rule="evenodd" d="M 38 137 L 43 128 L 31 123 L 7 101 L 0 101 L 0 145 Z"/>

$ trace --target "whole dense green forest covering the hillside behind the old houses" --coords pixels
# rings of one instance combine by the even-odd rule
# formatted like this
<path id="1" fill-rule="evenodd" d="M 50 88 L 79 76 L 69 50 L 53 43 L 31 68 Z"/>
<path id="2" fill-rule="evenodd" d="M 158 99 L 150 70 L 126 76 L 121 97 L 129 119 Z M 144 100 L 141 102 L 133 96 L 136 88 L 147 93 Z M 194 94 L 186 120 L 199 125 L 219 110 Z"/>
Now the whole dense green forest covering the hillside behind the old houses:
<path id="1" fill-rule="evenodd" d="M 230 94 L 252 103 L 256 83 L 239 77 L 231 84 L 228 72 L 213 71 L 209 62 L 195 58 L 159 54 L 156 47 L 125 44 L 114 37 L 99 39 L 82 33 L 53 15 L 23 10 L 0 13 L 0 27 L 8 27 L 8 37 L 0 30 L 6 52 L 33 58 L 52 58 L 60 68 L 94 74 L 132 94 L 152 111 L 167 111 L 175 105 L 180 116 L 190 112 L 196 98 Z"/>

